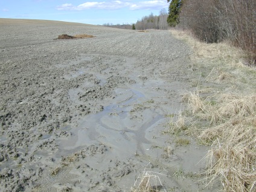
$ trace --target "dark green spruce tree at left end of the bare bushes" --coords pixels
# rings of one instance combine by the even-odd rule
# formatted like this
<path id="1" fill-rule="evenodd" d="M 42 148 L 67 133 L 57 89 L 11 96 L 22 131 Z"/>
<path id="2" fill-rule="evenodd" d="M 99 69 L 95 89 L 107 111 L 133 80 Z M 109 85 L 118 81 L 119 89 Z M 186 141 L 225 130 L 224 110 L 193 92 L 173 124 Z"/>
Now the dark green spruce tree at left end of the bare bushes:
<path id="1" fill-rule="evenodd" d="M 175 27 L 179 23 L 179 11 L 181 10 L 182 0 L 167 0 L 167 2 L 170 2 L 167 22 L 171 27 Z"/>

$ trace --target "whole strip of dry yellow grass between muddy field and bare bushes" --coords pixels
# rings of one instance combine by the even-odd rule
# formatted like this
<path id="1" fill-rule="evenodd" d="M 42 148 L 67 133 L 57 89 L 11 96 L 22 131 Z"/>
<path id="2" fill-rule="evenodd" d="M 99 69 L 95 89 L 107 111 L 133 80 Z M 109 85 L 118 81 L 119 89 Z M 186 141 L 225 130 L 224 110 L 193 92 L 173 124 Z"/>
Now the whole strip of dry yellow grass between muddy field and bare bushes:
<path id="1" fill-rule="evenodd" d="M 193 46 L 194 75 L 208 70 L 200 83 L 216 83 L 216 88 L 198 86 L 182 97 L 190 117 L 183 118 L 191 121 L 184 127 L 196 130 L 199 141 L 211 146 L 205 156 L 208 184 L 218 180 L 223 191 L 256 191 L 256 70 L 242 64 L 245 54 L 237 48 L 171 32 Z"/>

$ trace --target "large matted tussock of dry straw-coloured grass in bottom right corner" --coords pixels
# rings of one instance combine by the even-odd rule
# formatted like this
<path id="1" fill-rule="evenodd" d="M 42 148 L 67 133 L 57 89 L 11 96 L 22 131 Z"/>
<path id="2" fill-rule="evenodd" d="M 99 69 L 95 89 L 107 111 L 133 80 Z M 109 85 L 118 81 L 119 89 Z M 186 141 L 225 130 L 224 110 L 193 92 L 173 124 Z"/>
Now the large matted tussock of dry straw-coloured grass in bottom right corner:
<path id="1" fill-rule="evenodd" d="M 255 144 L 255 127 L 223 130 L 222 140 L 215 139 L 206 156 L 210 184 L 220 178 L 224 191 L 255 191 Z"/>

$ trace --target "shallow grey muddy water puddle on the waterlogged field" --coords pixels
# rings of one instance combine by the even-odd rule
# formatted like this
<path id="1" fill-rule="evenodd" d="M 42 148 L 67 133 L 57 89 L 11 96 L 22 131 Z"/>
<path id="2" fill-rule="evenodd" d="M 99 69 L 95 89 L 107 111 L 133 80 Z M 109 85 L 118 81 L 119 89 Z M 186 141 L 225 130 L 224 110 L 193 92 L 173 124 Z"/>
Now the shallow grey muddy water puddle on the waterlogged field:
<path id="1" fill-rule="evenodd" d="M 143 118 L 135 117 L 131 110 L 145 100 L 145 95 L 135 89 L 118 88 L 113 104 L 97 114 L 87 115 L 80 126 L 71 129 L 72 136 L 60 141 L 60 149 L 74 150 L 101 142 L 120 152 L 123 149 L 144 153 L 142 144 L 150 144 L 145 138 L 146 130 L 158 124 L 164 117 L 151 109 L 141 112 Z"/>

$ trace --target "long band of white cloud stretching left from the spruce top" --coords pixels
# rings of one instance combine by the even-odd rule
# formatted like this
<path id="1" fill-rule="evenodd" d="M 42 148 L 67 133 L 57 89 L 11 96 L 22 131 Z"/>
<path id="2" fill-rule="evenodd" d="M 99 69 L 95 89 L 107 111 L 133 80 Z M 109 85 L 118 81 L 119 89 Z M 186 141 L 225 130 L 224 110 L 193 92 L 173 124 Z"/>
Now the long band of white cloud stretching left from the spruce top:
<path id="1" fill-rule="evenodd" d="M 72 5 L 72 4 L 62 4 L 57 6 L 57 10 L 85 10 L 89 8 L 98 8 L 98 9 L 106 9 L 106 10 L 114 10 L 118 8 L 127 7 L 130 10 L 160 10 L 161 8 L 168 7 L 167 1 L 140 1 L 140 2 L 132 2 L 130 0 L 126 1 L 110 1 L 110 2 L 85 2 L 80 5 Z"/>

